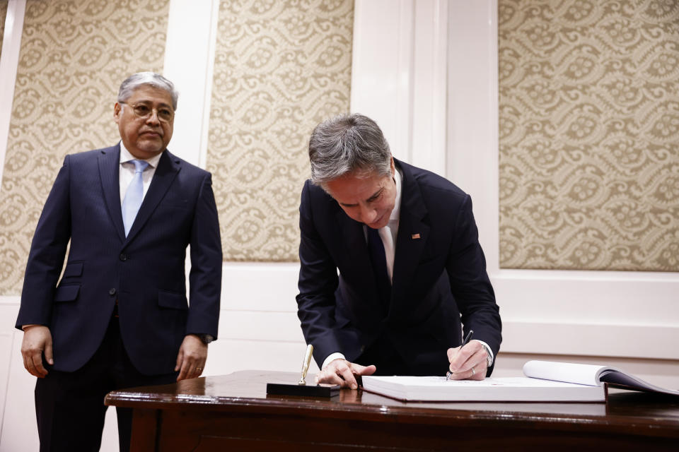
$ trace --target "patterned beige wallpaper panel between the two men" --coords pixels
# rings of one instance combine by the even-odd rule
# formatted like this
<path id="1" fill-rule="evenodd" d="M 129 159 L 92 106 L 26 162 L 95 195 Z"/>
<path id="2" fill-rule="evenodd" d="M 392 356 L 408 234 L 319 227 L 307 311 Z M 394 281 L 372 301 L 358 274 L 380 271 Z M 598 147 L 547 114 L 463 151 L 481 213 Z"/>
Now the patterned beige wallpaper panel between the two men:
<path id="1" fill-rule="evenodd" d="M 296 261 L 313 127 L 349 111 L 352 0 L 221 0 L 207 169 L 227 261 Z"/>

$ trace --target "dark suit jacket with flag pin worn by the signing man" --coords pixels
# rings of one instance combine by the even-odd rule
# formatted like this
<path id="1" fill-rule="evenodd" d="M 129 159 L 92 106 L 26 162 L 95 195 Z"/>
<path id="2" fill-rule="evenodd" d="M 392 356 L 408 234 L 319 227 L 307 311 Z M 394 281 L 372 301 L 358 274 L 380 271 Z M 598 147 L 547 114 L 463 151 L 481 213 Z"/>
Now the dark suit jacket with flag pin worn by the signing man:
<path id="1" fill-rule="evenodd" d="M 403 177 L 386 315 L 364 225 L 319 186 L 307 181 L 302 190 L 298 316 L 316 362 L 332 352 L 353 361 L 383 336 L 412 368 L 445 373 L 446 350 L 461 342 L 460 315 L 465 330 L 474 330 L 497 356 L 499 308 L 470 196 L 432 172 L 395 164 Z"/>

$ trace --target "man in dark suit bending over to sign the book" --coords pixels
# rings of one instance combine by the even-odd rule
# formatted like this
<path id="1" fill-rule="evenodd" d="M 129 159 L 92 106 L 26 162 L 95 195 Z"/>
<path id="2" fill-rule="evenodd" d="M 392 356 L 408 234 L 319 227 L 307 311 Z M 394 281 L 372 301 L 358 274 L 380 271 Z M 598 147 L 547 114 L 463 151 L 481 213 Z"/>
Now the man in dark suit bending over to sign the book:
<path id="1" fill-rule="evenodd" d="M 297 304 L 318 381 L 489 376 L 501 321 L 470 196 L 395 160 L 360 114 L 316 126 L 309 157 Z M 474 332 L 461 348 L 460 318 Z"/>

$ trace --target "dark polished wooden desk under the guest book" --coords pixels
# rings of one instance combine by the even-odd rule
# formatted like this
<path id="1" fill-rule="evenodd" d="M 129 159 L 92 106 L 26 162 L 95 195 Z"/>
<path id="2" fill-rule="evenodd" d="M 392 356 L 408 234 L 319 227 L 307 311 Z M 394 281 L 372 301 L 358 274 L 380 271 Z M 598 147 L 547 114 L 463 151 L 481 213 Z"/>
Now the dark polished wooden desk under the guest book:
<path id="1" fill-rule="evenodd" d="M 267 382 L 297 379 L 240 371 L 114 391 L 105 403 L 134 409 L 132 452 L 679 450 L 679 400 L 654 394 L 617 391 L 605 404 L 267 396 Z"/>

